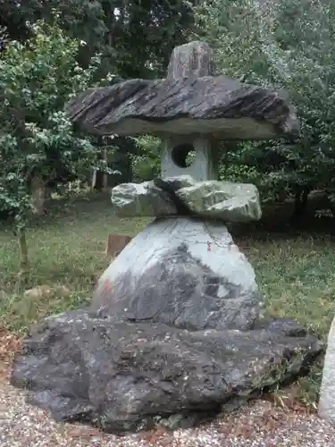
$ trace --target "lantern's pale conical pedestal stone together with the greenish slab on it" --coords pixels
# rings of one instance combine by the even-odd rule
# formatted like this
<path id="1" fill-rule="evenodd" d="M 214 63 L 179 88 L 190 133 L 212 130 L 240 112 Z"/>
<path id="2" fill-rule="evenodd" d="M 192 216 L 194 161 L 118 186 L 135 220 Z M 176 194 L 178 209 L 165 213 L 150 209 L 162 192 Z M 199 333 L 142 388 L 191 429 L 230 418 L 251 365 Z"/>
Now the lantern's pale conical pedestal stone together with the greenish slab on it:
<path id="1" fill-rule="evenodd" d="M 197 158 L 196 158 L 197 162 Z M 115 321 L 189 330 L 246 330 L 262 299 L 255 272 L 225 222 L 261 215 L 253 185 L 195 181 L 189 175 L 113 189 L 118 215 L 157 217 L 102 275 L 91 309 Z M 188 215 L 180 216 L 180 204 Z"/>

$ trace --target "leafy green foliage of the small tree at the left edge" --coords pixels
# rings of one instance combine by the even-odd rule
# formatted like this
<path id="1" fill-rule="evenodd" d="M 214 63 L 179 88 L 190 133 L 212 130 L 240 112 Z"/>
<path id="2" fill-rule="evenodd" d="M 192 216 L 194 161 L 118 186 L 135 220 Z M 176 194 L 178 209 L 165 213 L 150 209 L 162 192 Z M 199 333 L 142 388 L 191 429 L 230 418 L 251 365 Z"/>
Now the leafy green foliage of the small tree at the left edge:
<path id="1" fill-rule="evenodd" d="M 33 180 L 67 181 L 96 164 L 96 148 L 76 133 L 64 105 L 87 89 L 100 68 L 96 55 L 86 70 L 77 62 L 80 39 L 54 22 L 37 21 L 31 38 L 10 41 L 0 59 L 0 209 L 24 223 Z"/>

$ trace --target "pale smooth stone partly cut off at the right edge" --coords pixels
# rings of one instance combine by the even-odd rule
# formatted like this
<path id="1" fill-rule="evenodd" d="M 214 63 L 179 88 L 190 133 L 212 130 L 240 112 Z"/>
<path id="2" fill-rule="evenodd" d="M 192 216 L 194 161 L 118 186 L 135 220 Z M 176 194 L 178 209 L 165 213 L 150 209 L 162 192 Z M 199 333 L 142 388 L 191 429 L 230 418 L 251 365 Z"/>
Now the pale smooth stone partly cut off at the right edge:
<path id="1" fill-rule="evenodd" d="M 323 364 L 319 415 L 335 425 L 335 318 L 332 320 L 328 335 Z"/>

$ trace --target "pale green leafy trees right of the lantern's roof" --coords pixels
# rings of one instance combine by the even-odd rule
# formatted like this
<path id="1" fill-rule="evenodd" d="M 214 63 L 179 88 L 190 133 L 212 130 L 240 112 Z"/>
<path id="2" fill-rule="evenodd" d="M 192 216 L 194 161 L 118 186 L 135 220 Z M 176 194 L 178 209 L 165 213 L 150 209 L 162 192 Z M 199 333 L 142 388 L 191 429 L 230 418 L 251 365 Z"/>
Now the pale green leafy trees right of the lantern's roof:
<path id="1" fill-rule="evenodd" d="M 213 0 L 196 8 L 197 22 L 228 76 L 289 92 L 302 136 L 272 143 L 281 162 L 266 170 L 269 145 L 249 147 L 260 175 L 306 188 L 335 188 L 335 4 L 331 0 Z M 262 155 L 260 156 L 260 151 Z M 262 174 L 263 175 L 263 174 Z"/>

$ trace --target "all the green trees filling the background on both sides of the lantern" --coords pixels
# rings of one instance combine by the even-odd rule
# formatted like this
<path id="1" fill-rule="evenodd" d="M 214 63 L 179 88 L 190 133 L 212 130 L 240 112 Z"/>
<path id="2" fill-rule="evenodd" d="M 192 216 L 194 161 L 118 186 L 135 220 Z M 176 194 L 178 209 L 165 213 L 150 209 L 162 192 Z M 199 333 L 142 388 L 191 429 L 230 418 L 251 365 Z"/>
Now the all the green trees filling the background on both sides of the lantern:
<path id="1" fill-rule="evenodd" d="M 196 4 L 196 5 L 195 5 Z M 105 169 L 101 139 L 72 128 L 63 105 L 89 85 L 163 76 L 173 46 L 191 38 L 214 48 L 218 72 L 288 91 L 301 138 L 222 146 L 220 173 L 252 181 L 264 201 L 311 190 L 333 199 L 335 6 L 330 0 L 0 0 L 0 207 L 23 228 L 32 190 L 58 188 Z M 5 30 L 4 30 L 5 29 Z M 157 139 L 104 143 L 117 181 L 159 172 Z M 4 166 L 4 167 L 3 167 Z"/>

